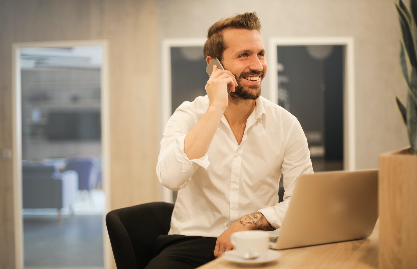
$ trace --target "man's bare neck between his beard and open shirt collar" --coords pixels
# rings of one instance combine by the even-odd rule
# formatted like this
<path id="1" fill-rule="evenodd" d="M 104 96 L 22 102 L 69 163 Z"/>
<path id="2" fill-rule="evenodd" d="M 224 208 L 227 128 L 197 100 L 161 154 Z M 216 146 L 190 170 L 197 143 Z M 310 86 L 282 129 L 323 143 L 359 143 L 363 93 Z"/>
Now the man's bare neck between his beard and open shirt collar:
<path id="1" fill-rule="evenodd" d="M 246 120 L 255 109 L 256 100 L 244 100 L 237 103 L 229 99 L 229 104 L 224 111 L 224 116 L 229 122 L 229 125 L 235 123 L 246 123 Z"/>

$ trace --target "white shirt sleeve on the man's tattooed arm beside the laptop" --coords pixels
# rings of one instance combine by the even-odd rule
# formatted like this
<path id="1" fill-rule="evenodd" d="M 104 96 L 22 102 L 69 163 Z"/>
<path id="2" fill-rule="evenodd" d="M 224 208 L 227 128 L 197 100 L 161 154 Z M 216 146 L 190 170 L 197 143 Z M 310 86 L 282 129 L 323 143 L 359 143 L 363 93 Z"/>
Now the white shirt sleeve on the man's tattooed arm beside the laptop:
<path id="1" fill-rule="evenodd" d="M 259 209 L 275 229 L 282 226 L 286 211 L 294 192 L 297 178 L 303 173 L 313 173 L 310 151 L 306 136 L 298 120 L 294 121 L 286 138 L 284 160 L 282 163 L 284 201 L 274 206 Z"/>

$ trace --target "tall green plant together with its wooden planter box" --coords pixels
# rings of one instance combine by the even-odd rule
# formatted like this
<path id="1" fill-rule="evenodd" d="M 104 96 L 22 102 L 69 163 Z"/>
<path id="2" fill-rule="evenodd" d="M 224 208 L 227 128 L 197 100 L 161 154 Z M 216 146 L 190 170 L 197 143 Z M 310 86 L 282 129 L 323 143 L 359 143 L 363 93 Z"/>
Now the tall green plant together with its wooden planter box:
<path id="1" fill-rule="evenodd" d="M 407 103 L 396 97 L 410 147 L 379 156 L 379 268 L 417 268 L 417 0 L 395 3 Z M 411 66 L 408 71 L 407 61 Z"/>

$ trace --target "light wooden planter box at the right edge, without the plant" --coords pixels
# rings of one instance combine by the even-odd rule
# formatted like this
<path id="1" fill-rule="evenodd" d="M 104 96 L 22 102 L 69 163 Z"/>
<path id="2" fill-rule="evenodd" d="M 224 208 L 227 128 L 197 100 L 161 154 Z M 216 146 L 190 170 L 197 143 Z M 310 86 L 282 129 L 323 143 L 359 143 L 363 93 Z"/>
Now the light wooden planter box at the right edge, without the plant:
<path id="1" fill-rule="evenodd" d="M 417 268 L 417 156 L 379 155 L 379 268 Z M 408 153 L 408 154 L 407 154 Z"/>

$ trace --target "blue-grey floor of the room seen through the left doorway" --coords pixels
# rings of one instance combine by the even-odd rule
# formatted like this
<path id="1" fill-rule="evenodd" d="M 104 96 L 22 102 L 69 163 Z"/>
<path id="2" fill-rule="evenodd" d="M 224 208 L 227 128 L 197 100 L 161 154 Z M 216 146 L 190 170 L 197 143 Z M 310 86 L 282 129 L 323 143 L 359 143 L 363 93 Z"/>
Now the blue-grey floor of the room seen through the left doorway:
<path id="1" fill-rule="evenodd" d="M 103 267 L 103 209 L 100 191 L 80 193 L 74 215 L 63 209 L 23 211 L 24 265 L 29 267 Z"/>

